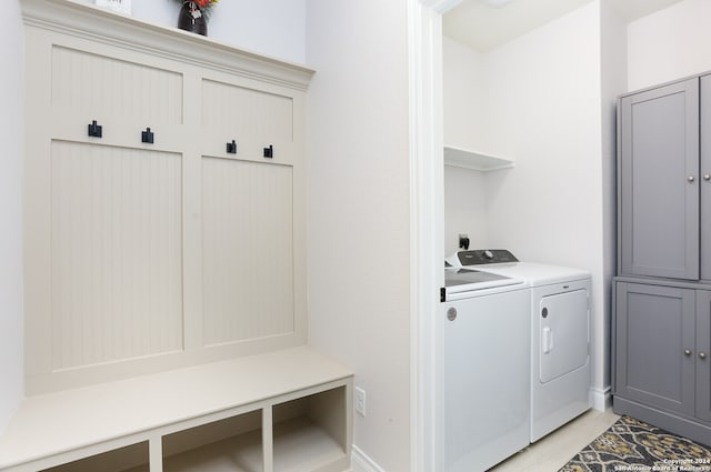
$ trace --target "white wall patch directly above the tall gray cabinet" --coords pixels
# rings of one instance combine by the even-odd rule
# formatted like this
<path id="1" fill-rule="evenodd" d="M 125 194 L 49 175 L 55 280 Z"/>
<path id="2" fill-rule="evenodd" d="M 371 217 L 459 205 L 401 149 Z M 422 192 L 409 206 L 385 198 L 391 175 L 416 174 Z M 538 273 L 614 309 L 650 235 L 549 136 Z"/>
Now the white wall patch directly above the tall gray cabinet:
<path id="1" fill-rule="evenodd" d="M 629 24 L 628 90 L 711 70 L 711 1 L 684 0 Z"/>

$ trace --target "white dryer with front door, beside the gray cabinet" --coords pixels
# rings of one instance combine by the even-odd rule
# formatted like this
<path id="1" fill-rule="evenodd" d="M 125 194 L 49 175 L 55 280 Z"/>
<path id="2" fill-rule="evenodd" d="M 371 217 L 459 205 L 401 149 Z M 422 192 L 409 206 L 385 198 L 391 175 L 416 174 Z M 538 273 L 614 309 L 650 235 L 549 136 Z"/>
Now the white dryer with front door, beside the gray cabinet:
<path id="1" fill-rule="evenodd" d="M 520 262 L 507 250 L 458 251 L 447 262 L 521 279 L 530 287 L 530 442 L 589 410 L 590 273 Z"/>

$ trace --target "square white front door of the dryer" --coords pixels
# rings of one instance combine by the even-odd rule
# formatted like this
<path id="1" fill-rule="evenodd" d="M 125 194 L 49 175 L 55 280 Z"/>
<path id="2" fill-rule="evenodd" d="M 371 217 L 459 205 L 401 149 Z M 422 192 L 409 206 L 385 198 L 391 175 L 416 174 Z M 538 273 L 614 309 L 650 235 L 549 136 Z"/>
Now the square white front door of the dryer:
<path id="1" fill-rule="evenodd" d="M 543 297 L 539 305 L 539 380 L 543 383 L 588 363 L 588 291 Z"/>

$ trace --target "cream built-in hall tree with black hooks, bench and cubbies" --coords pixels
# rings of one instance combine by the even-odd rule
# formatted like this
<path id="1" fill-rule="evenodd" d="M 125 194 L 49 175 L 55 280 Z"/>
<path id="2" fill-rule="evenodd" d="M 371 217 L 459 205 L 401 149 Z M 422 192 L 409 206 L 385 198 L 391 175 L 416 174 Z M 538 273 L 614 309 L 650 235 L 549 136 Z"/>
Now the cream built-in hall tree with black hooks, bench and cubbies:
<path id="1" fill-rule="evenodd" d="M 83 0 L 24 22 L 26 399 L 2 472 L 343 472 L 308 345 L 313 71 Z"/>

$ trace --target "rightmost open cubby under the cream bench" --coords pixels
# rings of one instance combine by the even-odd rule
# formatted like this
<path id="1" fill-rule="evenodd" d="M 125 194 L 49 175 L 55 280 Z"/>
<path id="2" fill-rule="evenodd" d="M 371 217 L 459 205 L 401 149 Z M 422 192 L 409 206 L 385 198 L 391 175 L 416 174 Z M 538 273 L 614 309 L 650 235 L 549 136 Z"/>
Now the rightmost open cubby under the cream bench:
<path id="1" fill-rule="evenodd" d="M 346 465 L 346 386 L 276 404 L 273 463 L 276 472 L 301 472 Z M 343 469 L 340 469 L 343 470 Z"/>

